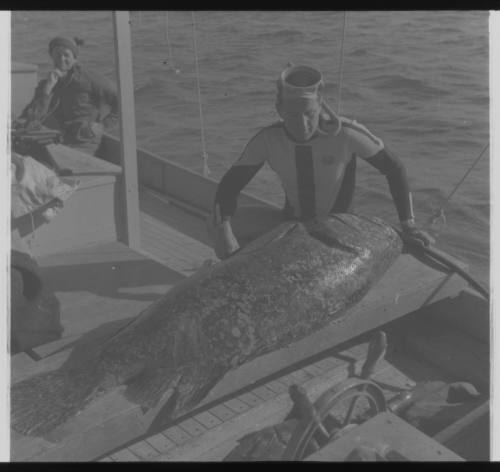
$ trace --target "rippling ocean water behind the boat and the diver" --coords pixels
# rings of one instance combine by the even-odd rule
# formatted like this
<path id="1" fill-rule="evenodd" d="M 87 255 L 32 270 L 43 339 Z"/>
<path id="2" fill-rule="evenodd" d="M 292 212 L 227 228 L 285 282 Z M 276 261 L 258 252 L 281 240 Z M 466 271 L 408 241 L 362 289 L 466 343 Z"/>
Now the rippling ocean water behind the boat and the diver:
<path id="1" fill-rule="evenodd" d="M 202 171 L 202 130 L 219 179 L 262 126 L 278 119 L 275 82 L 291 61 L 320 68 L 337 108 L 343 13 L 133 12 L 137 139 L 141 147 Z M 110 12 L 14 12 L 12 59 L 50 67 L 55 35 L 85 40 L 81 62 L 114 79 Z M 341 114 L 384 140 L 405 163 L 417 221 L 444 203 L 489 141 L 488 12 L 349 12 Z M 199 82 L 195 58 L 198 57 Z M 200 120 L 200 87 L 203 127 Z M 428 227 L 436 246 L 489 280 L 489 152 Z M 264 168 L 248 190 L 283 201 Z M 358 165 L 355 209 L 397 221 L 385 178 Z"/>

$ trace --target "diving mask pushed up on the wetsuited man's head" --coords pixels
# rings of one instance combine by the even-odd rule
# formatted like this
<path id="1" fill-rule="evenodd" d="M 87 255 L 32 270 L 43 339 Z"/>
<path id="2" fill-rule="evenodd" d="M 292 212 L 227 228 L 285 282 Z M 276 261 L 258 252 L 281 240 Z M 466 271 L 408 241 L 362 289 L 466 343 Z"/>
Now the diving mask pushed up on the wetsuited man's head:
<path id="1" fill-rule="evenodd" d="M 287 108 L 306 109 L 318 103 L 321 107 L 321 118 L 333 125 L 334 134 L 340 131 L 340 120 L 337 114 L 325 102 L 322 92 L 325 87 L 321 72 L 310 66 L 289 64 L 276 83 L 276 111 L 283 118 Z M 321 131 L 321 130 L 320 130 Z"/>

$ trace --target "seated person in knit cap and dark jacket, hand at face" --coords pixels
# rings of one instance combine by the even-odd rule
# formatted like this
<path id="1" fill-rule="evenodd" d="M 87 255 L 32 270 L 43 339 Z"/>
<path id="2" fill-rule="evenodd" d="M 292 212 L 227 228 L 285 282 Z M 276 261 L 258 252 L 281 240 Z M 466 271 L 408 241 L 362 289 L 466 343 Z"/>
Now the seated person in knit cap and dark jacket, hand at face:
<path id="1" fill-rule="evenodd" d="M 54 69 L 40 81 L 15 127 L 43 124 L 61 131 L 67 146 L 95 155 L 103 129 L 117 123 L 118 98 L 113 84 L 78 62 L 81 43 L 65 37 L 50 41 Z"/>

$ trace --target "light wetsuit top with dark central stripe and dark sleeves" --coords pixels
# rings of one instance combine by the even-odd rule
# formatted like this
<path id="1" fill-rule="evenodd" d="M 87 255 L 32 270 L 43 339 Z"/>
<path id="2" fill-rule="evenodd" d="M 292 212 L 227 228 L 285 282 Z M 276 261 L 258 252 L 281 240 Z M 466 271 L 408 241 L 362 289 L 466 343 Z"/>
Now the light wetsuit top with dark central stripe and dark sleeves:
<path id="1" fill-rule="evenodd" d="M 215 204 L 223 218 L 231 216 L 238 194 L 267 162 L 281 180 L 291 218 L 346 212 L 354 195 L 356 157 L 386 175 L 399 219 L 412 219 L 403 164 L 363 125 L 346 118 L 341 118 L 336 129 L 321 122 L 319 131 L 304 143 L 294 141 L 282 122 L 261 129 L 222 178 Z"/>

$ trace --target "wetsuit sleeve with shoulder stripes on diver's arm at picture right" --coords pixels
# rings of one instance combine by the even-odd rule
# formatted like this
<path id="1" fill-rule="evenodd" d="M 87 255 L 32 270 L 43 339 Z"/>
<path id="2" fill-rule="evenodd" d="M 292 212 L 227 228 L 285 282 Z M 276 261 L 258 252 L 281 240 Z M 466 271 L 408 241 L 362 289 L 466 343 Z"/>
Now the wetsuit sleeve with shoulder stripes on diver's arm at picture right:
<path id="1" fill-rule="evenodd" d="M 413 219 L 411 193 L 406 169 L 401 160 L 377 138 L 356 121 L 343 123 L 349 143 L 356 156 L 364 159 L 387 178 L 389 190 L 400 221 Z"/>

